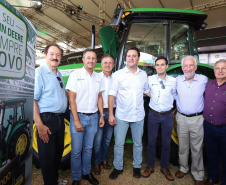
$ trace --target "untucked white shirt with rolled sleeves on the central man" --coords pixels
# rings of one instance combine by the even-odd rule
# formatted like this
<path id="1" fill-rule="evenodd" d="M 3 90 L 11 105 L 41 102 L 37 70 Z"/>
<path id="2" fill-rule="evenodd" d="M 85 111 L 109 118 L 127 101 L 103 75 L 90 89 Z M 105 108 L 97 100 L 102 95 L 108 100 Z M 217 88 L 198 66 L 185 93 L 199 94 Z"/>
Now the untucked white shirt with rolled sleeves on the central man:
<path id="1" fill-rule="evenodd" d="M 116 97 L 115 116 L 123 121 L 137 122 L 144 119 L 143 94 L 149 92 L 147 73 L 139 68 L 135 74 L 127 67 L 113 74 L 109 95 Z"/>

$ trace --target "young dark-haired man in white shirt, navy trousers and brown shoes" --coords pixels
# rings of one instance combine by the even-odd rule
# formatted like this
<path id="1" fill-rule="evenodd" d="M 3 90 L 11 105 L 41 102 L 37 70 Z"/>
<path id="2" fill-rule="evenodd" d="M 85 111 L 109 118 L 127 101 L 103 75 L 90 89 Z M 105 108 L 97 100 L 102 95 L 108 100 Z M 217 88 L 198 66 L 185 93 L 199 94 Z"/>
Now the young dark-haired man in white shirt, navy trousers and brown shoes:
<path id="1" fill-rule="evenodd" d="M 161 168 L 166 179 L 173 181 L 169 170 L 170 141 L 173 129 L 173 101 L 176 96 L 176 79 L 166 74 L 168 61 L 159 56 L 155 60 L 157 74 L 148 77 L 151 92 L 148 115 L 147 167 L 142 176 L 147 178 L 154 172 L 156 156 L 156 140 L 158 129 L 162 131 Z"/>

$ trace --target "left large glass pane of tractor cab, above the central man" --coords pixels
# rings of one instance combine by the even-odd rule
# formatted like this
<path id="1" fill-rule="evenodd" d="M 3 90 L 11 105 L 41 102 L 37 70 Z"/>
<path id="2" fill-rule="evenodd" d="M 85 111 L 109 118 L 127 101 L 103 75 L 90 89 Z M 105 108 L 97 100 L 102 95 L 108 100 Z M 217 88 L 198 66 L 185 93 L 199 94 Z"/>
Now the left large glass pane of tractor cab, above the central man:
<path id="1" fill-rule="evenodd" d="M 125 50 L 134 46 L 141 52 L 139 68 L 152 75 L 155 59 L 166 55 L 166 26 L 162 22 L 132 24 Z"/>

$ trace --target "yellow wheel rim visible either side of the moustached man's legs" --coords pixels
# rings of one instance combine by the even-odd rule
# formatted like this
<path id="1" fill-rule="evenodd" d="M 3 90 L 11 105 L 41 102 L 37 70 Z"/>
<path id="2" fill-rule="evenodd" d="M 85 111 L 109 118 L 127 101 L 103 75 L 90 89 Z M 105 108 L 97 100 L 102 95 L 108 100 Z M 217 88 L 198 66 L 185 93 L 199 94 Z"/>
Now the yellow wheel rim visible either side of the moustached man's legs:
<path id="1" fill-rule="evenodd" d="M 71 132 L 70 132 L 70 122 L 67 119 L 64 119 L 65 133 L 64 133 L 64 152 L 62 157 L 66 156 L 71 152 Z M 37 144 L 37 128 L 35 123 L 33 124 L 33 149 L 38 153 L 38 144 Z"/>

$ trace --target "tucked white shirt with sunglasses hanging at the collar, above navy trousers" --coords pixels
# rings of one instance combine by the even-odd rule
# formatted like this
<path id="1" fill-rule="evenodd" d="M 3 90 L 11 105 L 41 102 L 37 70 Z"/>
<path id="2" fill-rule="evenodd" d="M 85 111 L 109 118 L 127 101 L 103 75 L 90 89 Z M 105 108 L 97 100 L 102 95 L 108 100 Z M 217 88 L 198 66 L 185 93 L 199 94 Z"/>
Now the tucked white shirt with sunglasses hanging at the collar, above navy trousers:
<path id="1" fill-rule="evenodd" d="M 176 96 L 176 78 L 166 75 L 163 80 L 165 89 L 161 88 L 160 81 L 161 78 L 157 74 L 148 77 L 148 86 L 151 91 L 149 107 L 157 112 L 165 112 L 173 108 Z"/>

